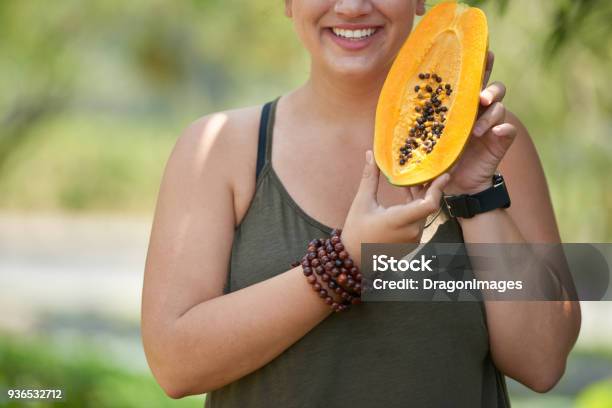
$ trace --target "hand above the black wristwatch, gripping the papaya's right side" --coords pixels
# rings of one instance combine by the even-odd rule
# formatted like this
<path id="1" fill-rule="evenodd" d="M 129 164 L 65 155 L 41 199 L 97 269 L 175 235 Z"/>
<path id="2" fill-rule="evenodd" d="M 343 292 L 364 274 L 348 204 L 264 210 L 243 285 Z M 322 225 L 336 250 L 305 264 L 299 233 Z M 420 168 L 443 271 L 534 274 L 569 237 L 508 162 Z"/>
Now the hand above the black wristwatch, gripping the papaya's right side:
<path id="1" fill-rule="evenodd" d="M 493 69 L 489 53 L 484 84 Z M 507 122 L 502 104 L 506 87 L 493 82 L 480 93 L 480 113 L 472 135 L 457 164 L 450 171 L 451 180 L 445 194 L 475 194 L 491 187 L 493 174 L 516 137 L 516 127 Z"/>

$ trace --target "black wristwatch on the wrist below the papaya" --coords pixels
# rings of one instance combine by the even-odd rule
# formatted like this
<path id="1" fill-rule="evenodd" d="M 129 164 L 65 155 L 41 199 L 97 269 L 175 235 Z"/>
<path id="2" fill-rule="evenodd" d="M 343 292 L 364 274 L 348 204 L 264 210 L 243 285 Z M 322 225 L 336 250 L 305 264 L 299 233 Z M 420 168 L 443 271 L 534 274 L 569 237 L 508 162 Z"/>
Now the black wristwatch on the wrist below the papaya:
<path id="1" fill-rule="evenodd" d="M 476 194 L 445 195 L 451 217 L 472 218 L 477 214 L 510 207 L 510 196 L 501 174 L 493 176 L 493 186 Z"/>

